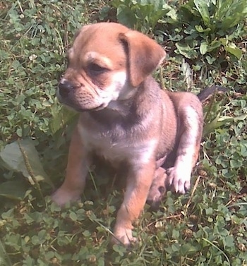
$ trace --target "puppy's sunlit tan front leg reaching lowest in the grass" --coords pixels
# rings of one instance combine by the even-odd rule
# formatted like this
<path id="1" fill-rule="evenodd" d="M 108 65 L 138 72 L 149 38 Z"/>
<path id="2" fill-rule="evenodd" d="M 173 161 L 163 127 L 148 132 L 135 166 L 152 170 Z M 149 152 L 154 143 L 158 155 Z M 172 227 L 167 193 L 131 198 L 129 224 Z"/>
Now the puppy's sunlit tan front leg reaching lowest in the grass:
<path id="1" fill-rule="evenodd" d="M 123 203 L 116 217 L 114 227 L 116 238 L 112 238 L 114 243 L 118 243 L 119 240 L 128 246 L 131 241 L 135 241 L 131 231 L 132 223 L 143 210 L 154 175 L 155 163 L 142 165 L 141 167 L 131 167 Z"/>

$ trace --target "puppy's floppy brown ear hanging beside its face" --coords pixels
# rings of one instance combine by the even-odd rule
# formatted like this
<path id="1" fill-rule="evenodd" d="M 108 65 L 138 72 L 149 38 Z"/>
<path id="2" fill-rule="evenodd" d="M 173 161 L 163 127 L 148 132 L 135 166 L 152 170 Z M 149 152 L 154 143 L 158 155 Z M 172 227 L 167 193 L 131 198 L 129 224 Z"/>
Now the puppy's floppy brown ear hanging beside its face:
<path id="1" fill-rule="evenodd" d="M 135 30 L 121 33 L 119 37 L 127 44 L 130 82 L 137 87 L 162 63 L 166 52 L 150 37 Z"/>

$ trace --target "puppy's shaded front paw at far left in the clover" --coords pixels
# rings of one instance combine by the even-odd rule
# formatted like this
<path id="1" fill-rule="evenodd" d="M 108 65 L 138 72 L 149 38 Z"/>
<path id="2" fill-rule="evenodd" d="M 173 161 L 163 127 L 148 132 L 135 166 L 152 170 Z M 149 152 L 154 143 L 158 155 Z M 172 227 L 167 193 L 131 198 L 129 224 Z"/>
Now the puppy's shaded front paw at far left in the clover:
<path id="1" fill-rule="evenodd" d="M 64 206 L 67 202 L 75 202 L 79 199 L 79 191 L 68 191 L 64 188 L 59 188 L 52 194 L 52 200 L 59 206 Z"/>

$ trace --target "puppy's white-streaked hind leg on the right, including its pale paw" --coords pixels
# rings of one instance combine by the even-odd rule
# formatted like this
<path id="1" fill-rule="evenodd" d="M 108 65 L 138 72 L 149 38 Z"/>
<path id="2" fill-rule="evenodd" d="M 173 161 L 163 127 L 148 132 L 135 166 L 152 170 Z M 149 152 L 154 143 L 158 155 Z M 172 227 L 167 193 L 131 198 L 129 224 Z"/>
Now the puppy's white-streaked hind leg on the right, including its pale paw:
<path id="1" fill-rule="evenodd" d="M 191 171 L 198 159 L 203 131 L 203 110 L 198 99 L 178 108 L 180 138 L 174 167 L 167 169 L 168 183 L 176 193 L 186 193 L 191 186 Z"/>

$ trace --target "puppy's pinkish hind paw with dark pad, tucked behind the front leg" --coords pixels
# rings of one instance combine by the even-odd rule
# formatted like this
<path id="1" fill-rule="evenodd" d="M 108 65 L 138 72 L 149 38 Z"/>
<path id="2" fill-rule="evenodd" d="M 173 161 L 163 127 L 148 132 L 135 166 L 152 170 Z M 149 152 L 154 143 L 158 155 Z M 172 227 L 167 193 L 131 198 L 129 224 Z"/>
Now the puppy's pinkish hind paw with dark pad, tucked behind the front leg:
<path id="1" fill-rule="evenodd" d="M 167 174 L 164 168 L 159 167 L 155 171 L 155 178 L 152 181 L 150 191 L 147 195 L 147 203 L 152 207 L 152 209 L 157 209 L 159 204 L 166 193 L 166 179 Z"/>

